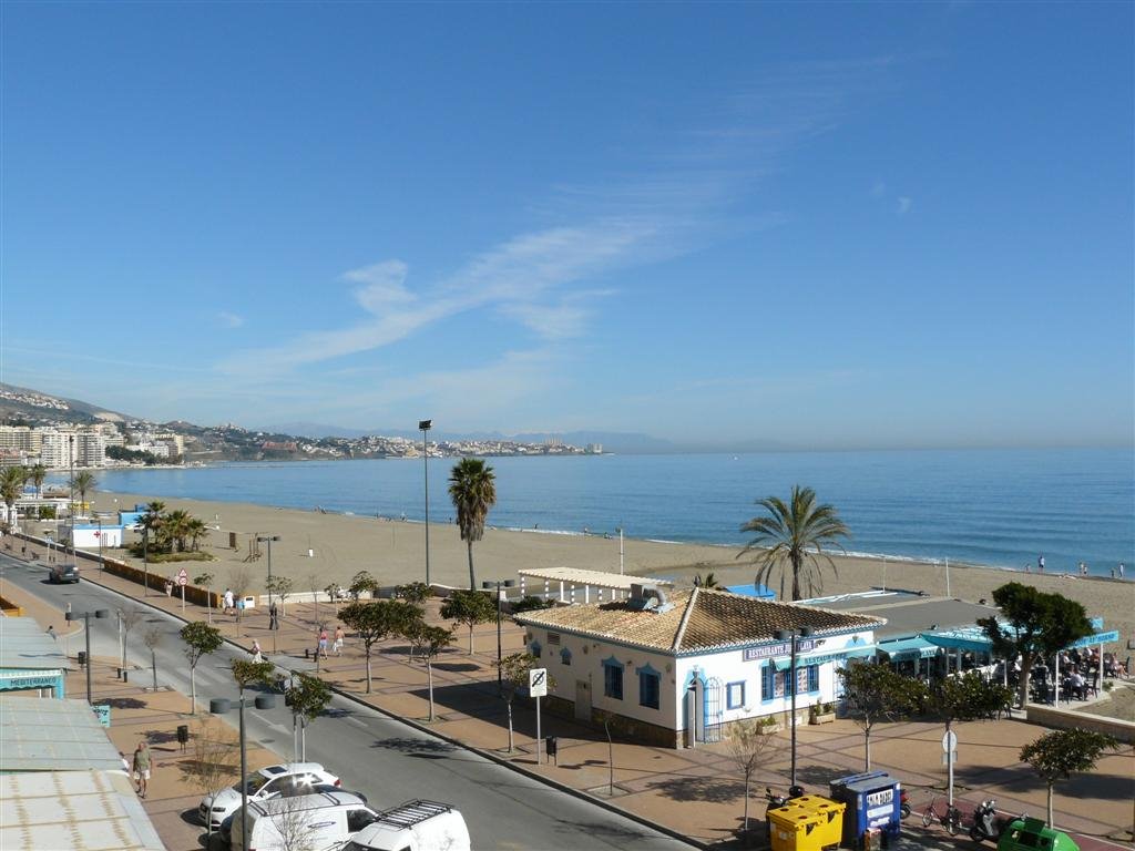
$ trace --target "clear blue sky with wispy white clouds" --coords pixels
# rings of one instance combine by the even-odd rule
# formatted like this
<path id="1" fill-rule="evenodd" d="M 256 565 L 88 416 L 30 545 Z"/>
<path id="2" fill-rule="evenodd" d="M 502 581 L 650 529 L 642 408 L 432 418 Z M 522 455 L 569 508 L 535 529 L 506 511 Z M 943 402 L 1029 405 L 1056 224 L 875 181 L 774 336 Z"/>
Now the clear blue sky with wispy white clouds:
<path id="1" fill-rule="evenodd" d="M 3 3 L 2 380 L 1130 445 L 1133 7 Z"/>

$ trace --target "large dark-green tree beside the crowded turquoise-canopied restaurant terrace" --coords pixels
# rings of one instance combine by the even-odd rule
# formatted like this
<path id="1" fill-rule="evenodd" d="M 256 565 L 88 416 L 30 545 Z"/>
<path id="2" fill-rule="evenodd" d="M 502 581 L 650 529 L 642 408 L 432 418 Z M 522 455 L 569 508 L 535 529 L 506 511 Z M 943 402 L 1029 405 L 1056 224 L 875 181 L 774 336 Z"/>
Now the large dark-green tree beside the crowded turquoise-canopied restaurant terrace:
<path id="1" fill-rule="evenodd" d="M 1020 655 L 1020 705 L 1028 702 L 1028 681 L 1037 659 L 1046 659 L 1074 641 L 1092 634 L 1084 607 L 1059 593 L 1045 593 L 1033 585 L 1009 582 L 994 589 L 993 603 L 1001 609 L 1002 626 L 995 617 L 977 624 L 993 643 L 993 652 L 1007 660 Z"/>

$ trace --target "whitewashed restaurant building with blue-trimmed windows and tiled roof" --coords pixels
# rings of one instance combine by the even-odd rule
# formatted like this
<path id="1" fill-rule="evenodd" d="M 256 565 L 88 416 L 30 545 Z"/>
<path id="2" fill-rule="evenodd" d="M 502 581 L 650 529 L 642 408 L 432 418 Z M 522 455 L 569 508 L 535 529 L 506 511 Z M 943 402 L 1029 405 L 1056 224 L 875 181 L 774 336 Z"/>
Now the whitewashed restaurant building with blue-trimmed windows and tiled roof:
<path id="1" fill-rule="evenodd" d="M 836 667 L 875 656 L 881 617 L 704 588 L 636 584 L 598 605 L 524 612 L 528 649 L 553 681 L 548 708 L 671 748 L 720 741 L 742 718 L 791 709 L 797 639 L 797 717 L 839 697 Z M 777 638 L 781 635 L 781 638 Z"/>

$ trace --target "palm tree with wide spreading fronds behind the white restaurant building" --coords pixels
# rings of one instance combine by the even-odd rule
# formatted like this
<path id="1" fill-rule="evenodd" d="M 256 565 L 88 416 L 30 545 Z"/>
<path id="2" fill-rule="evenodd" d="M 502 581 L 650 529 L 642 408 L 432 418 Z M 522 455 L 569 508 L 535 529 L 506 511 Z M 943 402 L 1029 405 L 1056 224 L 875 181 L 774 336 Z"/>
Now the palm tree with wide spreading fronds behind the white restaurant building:
<path id="1" fill-rule="evenodd" d="M 771 516 L 754 517 L 741 526 L 742 532 L 755 532 L 756 536 L 737 557 L 759 549 L 760 554 L 755 559 L 760 565 L 756 582 L 768 584 L 773 572 L 779 570 L 781 599 L 784 599 L 784 580 L 789 570 L 792 572 L 792 599 L 800 599 L 801 585 L 808 589 L 809 597 L 814 596 L 824 587 L 819 559 L 826 561 L 827 566 L 835 571 L 835 563 L 824 551 L 824 545 L 843 549 L 838 540 L 851 534 L 848 528 L 836 516 L 835 508 L 826 504 L 816 505 L 816 491 L 799 485 L 792 487 L 790 505 L 784 505 L 779 497 L 758 499 L 757 505 Z"/>

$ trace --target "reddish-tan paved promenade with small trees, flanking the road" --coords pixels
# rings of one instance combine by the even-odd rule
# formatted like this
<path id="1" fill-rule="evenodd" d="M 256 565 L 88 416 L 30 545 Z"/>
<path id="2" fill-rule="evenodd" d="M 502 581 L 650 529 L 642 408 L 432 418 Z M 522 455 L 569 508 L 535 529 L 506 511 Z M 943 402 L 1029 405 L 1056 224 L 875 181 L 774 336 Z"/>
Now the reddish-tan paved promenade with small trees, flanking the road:
<path id="1" fill-rule="evenodd" d="M 141 596 L 142 589 L 134 583 L 100 575 L 93 567 L 85 570 L 84 580 L 134 597 Z M 176 597 L 167 598 L 165 593 L 151 591 L 146 601 L 173 614 L 182 613 Z M 440 622 L 438 608 L 437 600 L 427 605 L 430 621 Z M 213 612 L 212 620 L 227 639 L 243 647 L 251 647 L 253 639 L 258 640 L 277 665 L 316 672 L 317 663 L 311 658 L 311 651 L 317 643 L 319 626 L 325 625 L 328 633 L 334 634 L 338 623 L 335 613 L 336 607 L 330 604 L 288 603 L 281 629 L 275 633 L 268 630 L 263 613 L 246 613 L 237 622 L 233 616 Z M 56 616 L 50 612 L 33 614 L 49 620 Z M 184 617 L 204 620 L 205 610 L 187 604 Z M 61 620 L 61 614 L 58 614 L 58 621 Z M 506 621 L 502 641 L 505 655 L 522 649 L 522 627 Z M 76 649 L 70 648 L 73 656 Z M 742 818 L 743 784 L 728 758 L 724 744 L 670 750 L 616 740 L 609 747 L 602 731 L 545 713 L 541 732 L 557 736 L 560 752 L 555 762 L 538 765 L 533 747 L 535 713 L 529 699 L 518 698 L 513 707 L 515 750 L 508 751 L 506 709 L 497 697 L 496 672 L 491 666 L 496 658 L 495 623 L 478 626 L 473 633 L 473 654 L 470 655 L 468 649 L 469 632 L 459 627 L 454 646 L 434 664 L 436 721 L 432 723 L 428 722 L 426 668 L 409 658 L 405 642 L 385 642 L 373 654 L 371 694 L 364 693 L 362 648 L 350 635 L 343 655 L 318 663 L 318 672 L 337 689 L 381 710 L 507 760 L 519 770 L 609 802 L 650 823 L 665 825 L 698 843 L 729 842 L 735 835 Z M 124 750 L 133 750 L 133 740 L 143 732 L 149 731 L 151 741 L 154 741 L 154 735 L 169 735 L 177 723 L 185 723 L 182 713 L 187 698 L 161 692 L 140 696 L 138 683 L 132 682 L 128 689 L 118 684 L 109 667 L 100 677 L 98 664 L 95 675 L 96 691 L 102 689 L 104 691 L 100 693 L 137 703 L 124 703 L 121 710 L 115 714 L 112 735 L 116 742 L 120 741 Z M 76 696 L 79 688 L 76 684 L 72 694 Z M 960 724 L 956 725 L 956 731 L 959 739 L 956 794 L 967 816 L 975 802 L 992 795 L 1003 810 L 1043 817 L 1044 787 L 1032 770 L 1018 761 L 1017 755 L 1023 744 L 1043 734 L 1044 728 L 1019 721 L 999 721 Z M 916 811 L 943 793 L 942 732 L 940 725 L 902 723 L 878 725 L 873 735 L 873 767 L 889 769 L 905 782 Z M 754 778 L 750 817 L 763 817 L 763 790 L 766 785 L 777 791 L 788 785 L 788 734 L 783 733 L 779 739 L 777 752 Z M 176 743 L 173 747 L 176 748 Z M 802 726 L 798 730 L 799 780 L 810 791 L 824 793 L 830 780 L 863 769 L 863 733 L 852 722 Z M 613 753 L 613 772 L 608 753 Z M 270 755 L 262 753 L 254 764 L 270 759 Z M 159 760 L 162 760 L 161 756 Z M 160 821 L 162 829 L 167 823 L 173 824 L 171 819 L 176 820 L 175 812 L 195 806 L 200 799 L 199 792 L 187 792 L 183 787 L 167 790 L 165 783 L 174 782 L 170 780 L 174 774 L 173 770 L 159 772 L 154 794 L 148 800 L 148 809 Z M 168 798 L 163 798 L 165 794 Z M 1085 851 L 1113 848 L 1117 842 L 1119 846 L 1129 848 L 1133 801 L 1135 755 L 1128 747 L 1104 757 L 1092 774 L 1077 775 L 1058 785 L 1056 821 L 1061 829 L 1082 834 L 1078 841 Z M 905 827 L 909 828 L 913 839 L 920 839 L 925 833 L 935 843 L 945 840 L 940 828 L 924 832 L 917 817 L 905 823 Z M 197 833 L 200 831 L 195 829 L 193 835 Z M 972 846 L 968 839 L 952 842 Z M 196 845 L 183 844 L 178 840 L 171 842 L 170 848 Z"/>

